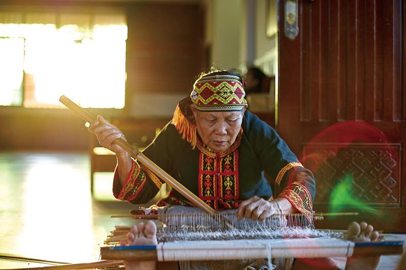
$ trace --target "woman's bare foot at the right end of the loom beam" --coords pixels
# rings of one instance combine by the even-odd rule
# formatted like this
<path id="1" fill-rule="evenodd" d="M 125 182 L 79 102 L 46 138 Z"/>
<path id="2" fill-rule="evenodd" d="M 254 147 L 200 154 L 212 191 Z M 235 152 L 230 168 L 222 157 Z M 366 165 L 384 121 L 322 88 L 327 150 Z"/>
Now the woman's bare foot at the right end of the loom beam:
<path id="1" fill-rule="evenodd" d="M 348 225 L 348 240 L 353 242 L 373 242 L 379 238 L 379 233 L 371 225 L 361 222 L 352 222 Z M 347 270 L 375 270 L 378 269 L 381 256 L 356 256 L 347 257 Z"/>

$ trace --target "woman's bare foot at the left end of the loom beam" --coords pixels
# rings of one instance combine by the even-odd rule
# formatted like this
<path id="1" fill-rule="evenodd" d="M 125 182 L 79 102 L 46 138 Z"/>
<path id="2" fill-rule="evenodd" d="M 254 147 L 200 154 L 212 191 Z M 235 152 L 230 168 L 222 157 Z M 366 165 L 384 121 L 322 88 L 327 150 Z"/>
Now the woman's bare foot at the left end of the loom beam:
<path id="1" fill-rule="evenodd" d="M 147 223 L 140 222 L 138 225 L 133 225 L 127 235 L 127 242 L 130 246 L 149 246 L 157 245 L 156 240 L 156 225 L 151 220 Z M 121 245 L 125 246 L 127 243 L 121 241 Z M 126 270 L 154 270 L 155 261 L 124 261 Z"/>

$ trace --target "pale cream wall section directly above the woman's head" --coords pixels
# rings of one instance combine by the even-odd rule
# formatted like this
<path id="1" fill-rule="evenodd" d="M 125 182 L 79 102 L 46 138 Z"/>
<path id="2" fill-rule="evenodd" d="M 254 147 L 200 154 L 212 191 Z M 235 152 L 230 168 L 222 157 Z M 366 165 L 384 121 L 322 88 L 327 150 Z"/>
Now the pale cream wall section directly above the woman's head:
<path id="1" fill-rule="evenodd" d="M 276 38 L 265 35 L 266 0 L 206 0 L 204 3 L 205 44 L 211 48 L 210 62 L 241 69 L 255 64 L 267 74 L 274 74 Z"/>

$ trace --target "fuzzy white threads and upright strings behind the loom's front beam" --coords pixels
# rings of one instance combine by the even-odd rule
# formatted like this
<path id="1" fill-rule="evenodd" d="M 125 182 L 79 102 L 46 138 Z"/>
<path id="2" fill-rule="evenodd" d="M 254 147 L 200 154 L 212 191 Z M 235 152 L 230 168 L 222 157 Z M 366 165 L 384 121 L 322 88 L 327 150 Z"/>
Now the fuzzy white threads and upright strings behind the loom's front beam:
<path id="1" fill-rule="evenodd" d="M 311 217 L 302 214 L 276 215 L 264 221 L 252 221 L 245 218 L 238 220 L 235 209 L 214 217 L 211 214 L 198 213 L 198 209 L 192 209 L 197 213 L 184 213 L 185 209 L 190 212 L 190 208 L 173 206 L 167 214 L 152 215 L 152 218 L 159 218 L 162 222 L 162 226 L 157 229 L 159 242 L 343 237 L 343 233 L 315 230 Z M 151 219 L 151 215 L 135 215 L 134 218 Z M 231 226 L 224 227 L 216 221 L 222 218 L 227 219 Z M 129 227 L 116 227 L 105 244 L 119 244 L 120 240 L 126 239 L 128 232 Z"/>

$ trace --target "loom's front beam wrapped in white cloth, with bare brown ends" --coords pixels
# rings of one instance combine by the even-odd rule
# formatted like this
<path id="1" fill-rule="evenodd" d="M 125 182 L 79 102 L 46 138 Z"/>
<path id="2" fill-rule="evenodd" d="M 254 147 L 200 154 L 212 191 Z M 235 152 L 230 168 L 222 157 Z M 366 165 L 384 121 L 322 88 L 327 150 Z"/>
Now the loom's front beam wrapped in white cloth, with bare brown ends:
<path id="1" fill-rule="evenodd" d="M 354 243 L 339 239 L 276 239 L 163 242 L 157 246 L 101 247 L 104 260 L 224 260 L 351 257 L 353 254 L 400 255 L 403 241 Z"/>

